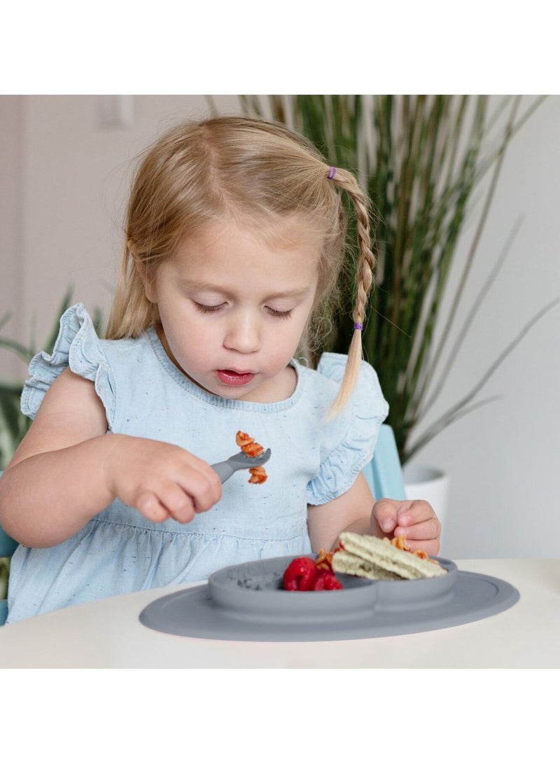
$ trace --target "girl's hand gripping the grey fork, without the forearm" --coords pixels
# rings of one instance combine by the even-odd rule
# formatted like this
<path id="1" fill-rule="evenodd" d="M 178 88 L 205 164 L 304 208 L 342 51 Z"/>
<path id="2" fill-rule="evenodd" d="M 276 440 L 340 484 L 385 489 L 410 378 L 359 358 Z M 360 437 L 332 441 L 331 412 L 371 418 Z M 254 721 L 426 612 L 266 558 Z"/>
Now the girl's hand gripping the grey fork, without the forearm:
<path id="1" fill-rule="evenodd" d="M 222 497 L 222 484 L 202 459 L 177 445 L 107 435 L 102 474 L 108 490 L 147 520 L 190 523 Z"/>

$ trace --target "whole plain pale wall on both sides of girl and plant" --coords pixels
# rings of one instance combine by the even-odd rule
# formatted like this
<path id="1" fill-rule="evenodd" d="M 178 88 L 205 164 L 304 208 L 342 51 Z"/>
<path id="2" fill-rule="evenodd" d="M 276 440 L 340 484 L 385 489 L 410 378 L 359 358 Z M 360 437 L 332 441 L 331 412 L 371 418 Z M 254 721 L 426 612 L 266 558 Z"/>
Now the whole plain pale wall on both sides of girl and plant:
<path id="1" fill-rule="evenodd" d="M 235 96 L 215 100 L 238 110 Z M 131 160 L 172 121 L 207 111 L 201 95 L 137 95 L 131 125 L 101 128 L 96 96 L 0 97 L 0 315 L 15 310 L 13 336 L 27 338 L 35 316 L 40 345 L 70 283 L 76 300 L 106 314 Z M 560 294 L 559 137 L 560 96 L 552 96 L 511 144 L 463 315 L 519 215 L 523 226 L 434 414 Z M 451 475 L 442 548 L 449 557 L 558 556 L 559 328 L 560 307 L 490 380 L 484 394 L 500 400 L 456 422 L 416 459 Z M 0 354 L 2 376 L 12 363 Z"/>

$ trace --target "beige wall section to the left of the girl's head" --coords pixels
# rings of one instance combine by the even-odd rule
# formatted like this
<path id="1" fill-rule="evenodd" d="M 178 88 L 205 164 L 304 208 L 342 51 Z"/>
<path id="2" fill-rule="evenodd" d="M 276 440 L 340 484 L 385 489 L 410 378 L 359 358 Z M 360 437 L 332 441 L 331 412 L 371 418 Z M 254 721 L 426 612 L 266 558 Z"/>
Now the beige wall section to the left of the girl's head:
<path id="1" fill-rule="evenodd" d="M 102 128 L 96 96 L 24 98 L 27 322 L 35 313 L 50 324 L 68 284 L 89 308 L 108 309 L 131 162 L 173 121 L 207 111 L 203 96 L 141 96 L 130 126 Z"/>

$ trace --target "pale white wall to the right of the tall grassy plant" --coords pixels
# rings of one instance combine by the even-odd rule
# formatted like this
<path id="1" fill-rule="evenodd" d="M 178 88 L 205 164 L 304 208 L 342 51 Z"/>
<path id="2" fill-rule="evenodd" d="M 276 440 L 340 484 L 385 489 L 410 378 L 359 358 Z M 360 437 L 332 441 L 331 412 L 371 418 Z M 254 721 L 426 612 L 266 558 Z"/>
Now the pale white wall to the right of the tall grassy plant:
<path id="1" fill-rule="evenodd" d="M 465 306 L 519 215 L 522 227 L 472 325 L 440 410 L 560 295 L 558 178 L 560 98 L 552 96 L 508 151 Z M 442 550 L 450 556 L 558 557 L 559 329 L 557 306 L 487 384 L 484 397 L 500 400 L 455 422 L 416 460 L 441 465 L 451 475 Z"/>

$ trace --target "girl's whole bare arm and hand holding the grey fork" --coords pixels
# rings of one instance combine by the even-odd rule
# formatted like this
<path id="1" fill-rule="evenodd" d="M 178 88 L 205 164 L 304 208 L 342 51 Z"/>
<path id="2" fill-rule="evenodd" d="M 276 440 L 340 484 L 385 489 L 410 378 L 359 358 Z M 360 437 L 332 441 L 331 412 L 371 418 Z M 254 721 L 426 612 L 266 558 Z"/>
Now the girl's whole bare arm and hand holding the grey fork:
<path id="1" fill-rule="evenodd" d="M 93 383 L 64 371 L 2 476 L 0 523 L 25 545 L 51 546 L 115 497 L 154 522 L 187 523 L 221 495 L 215 472 L 183 448 L 107 434 Z"/>

